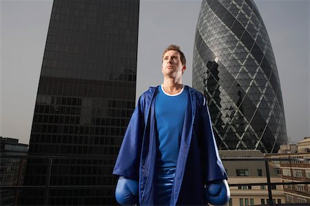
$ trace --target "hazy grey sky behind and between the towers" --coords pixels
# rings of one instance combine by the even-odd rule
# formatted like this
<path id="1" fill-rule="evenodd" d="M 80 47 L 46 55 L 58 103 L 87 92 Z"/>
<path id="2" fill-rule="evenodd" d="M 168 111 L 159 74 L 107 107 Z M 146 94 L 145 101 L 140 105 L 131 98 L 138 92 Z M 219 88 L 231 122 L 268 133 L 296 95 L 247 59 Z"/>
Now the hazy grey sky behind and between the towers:
<path id="1" fill-rule="evenodd" d="M 194 34 L 201 0 L 141 0 L 136 98 L 163 82 L 161 54 L 180 45 L 187 58 L 183 84 L 192 86 Z M 255 0 L 276 58 L 287 135 L 310 136 L 310 3 Z M 28 144 L 37 97 L 50 0 L 0 0 L 0 136 Z"/>

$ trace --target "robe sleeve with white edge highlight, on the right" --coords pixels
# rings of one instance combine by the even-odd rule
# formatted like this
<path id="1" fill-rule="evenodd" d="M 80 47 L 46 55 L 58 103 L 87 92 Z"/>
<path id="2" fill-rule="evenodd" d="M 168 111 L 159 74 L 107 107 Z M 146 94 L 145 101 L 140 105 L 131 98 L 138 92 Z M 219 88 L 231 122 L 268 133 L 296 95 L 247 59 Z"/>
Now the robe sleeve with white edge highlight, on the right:
<path id="1" fill-rule="evenodd" d="M 205 165 L 203 165 L 205 171 L 205 183 L 219 179 L 227 179 L 225 168 L 220 160 L 220 156 L 218 155 L 218 148 L 214 138 L 207 103 L 204 97 L 200 100 L 202 100 L 200 111 L 200 135 L 203 137 L 202 155 L 203 163 L 205 163 Z"/>

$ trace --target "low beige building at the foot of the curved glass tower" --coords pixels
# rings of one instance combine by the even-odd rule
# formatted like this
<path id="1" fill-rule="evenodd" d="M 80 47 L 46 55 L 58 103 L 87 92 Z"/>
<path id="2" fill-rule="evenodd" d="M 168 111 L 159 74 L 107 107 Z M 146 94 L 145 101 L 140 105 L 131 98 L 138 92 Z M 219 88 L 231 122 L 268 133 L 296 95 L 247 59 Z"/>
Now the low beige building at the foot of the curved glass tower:
<path id="1" fill-rule="evenodd" d="M 265 155 L 260 150 L 220 150 L 225 170 L 229 176 L 228 183 L 249 184 L 267 183 Z M 229 158 L 225 160 L 225 158 Z M 249 159 L 249 160 L 247 160 Z M 281 176 L 269 165 L 271 183 L 281 182 Z M 227 205 L 267 205 L 269 194 L 267 185 L 243 185 L 229 187 L 231 200 Z M 282 185 L 272 185 L 273 203 L 285 203 Z"/>

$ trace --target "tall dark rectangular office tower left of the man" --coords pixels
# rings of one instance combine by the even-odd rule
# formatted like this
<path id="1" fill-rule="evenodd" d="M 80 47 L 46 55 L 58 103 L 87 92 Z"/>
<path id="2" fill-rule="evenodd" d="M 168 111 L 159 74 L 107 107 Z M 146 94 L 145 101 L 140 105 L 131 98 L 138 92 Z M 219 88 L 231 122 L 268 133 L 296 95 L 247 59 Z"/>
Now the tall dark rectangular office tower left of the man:
<path id="1" fill-rule="evenodd" d="M 54 0 L 25 174 L 25 185 L 46 187 L 24 190 L 21 204 L 116 204 L 112 168 L 135 106 L 138 14 L 138 0 Z"/>

